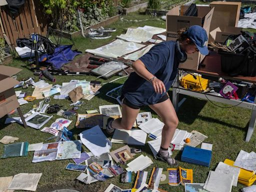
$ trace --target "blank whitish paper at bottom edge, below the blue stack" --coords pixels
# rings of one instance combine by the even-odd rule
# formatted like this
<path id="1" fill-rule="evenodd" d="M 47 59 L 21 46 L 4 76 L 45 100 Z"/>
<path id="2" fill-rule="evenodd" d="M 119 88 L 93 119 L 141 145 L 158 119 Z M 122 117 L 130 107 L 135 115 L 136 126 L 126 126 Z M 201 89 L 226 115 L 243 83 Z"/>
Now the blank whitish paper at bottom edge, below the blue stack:
<path id="1" fill-rule="evenodd" d="M 233 176 L 210 170 L 203 188 L 209 192 L 230 192 L 232 182 Z"/>

